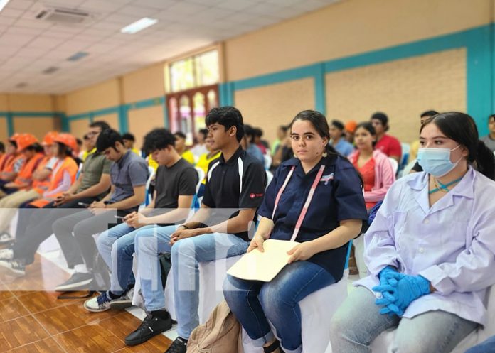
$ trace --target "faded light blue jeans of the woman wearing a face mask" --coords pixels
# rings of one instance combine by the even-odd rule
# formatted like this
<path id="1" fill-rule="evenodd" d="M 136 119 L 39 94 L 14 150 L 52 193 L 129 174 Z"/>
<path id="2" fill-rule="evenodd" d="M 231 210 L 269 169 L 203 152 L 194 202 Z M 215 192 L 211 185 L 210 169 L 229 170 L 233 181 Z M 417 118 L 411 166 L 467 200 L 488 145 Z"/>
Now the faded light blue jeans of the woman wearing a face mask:
<path id="1" fill-rule="evenodd" d="M 445 311 L 429 311 L 413 318 L 381 315 L 375 295 L 368 289 L 352 290 L 331 320 L 334 353 L 370 353 L 369 345 L 381 332 L 397 327 L 392 352 L 449 353 L 477 327 Z"/>

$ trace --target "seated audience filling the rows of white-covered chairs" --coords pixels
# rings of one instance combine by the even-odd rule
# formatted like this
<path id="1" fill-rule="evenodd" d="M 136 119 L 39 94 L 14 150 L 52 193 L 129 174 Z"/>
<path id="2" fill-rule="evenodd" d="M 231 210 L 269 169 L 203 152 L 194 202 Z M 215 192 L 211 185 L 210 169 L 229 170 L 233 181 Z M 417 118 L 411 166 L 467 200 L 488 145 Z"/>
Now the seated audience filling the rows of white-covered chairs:
<path id="1" fill-rule="evenodd" d="M 329 126 L 319 112 L 300 112 L 279 129 L 270 185 L 263 156 L 270 148 L 260 131 L 243 124 L 238 109 L 212 109 L 206 126 L 197 151 L 186 149 L 179 132 L 155 129 L 144 137 L 144 156 L 158 168 L 153 199 L 140 210 L 149 170 L 131 134 L 121 136 L 103 121 L 91 124 L 85 136 L 90 152 L 77 180 L 73 136 L 47 134 L 44 155 L 34 136 L 11 136 L 0 157 L 0 230 L 7 232 L 17 207 L 21 212 L 15 243 L 0 250 L 2 271 L 24 276 L 39 244 L 54 233 L 75 269 L 56 289 L 101 290 L 84 304 L 99 313 L 130 305 L 135 252 L 148 313 L 125 338 L 135 345 L 171 328 L 159 259 L 170 253 L 179 337 L 166 352 L 185 353 L 199 324 L 200 262 L 263 251 L 268 238 L 298 241 L 272 281 L 228 276 L 224 295 L 255 346 L 302 352 L 299 301 L 343 278 L 349 241 L 366 230 L 368 212 L 383 200 L 361 235 L 369 275 L 354 283 L 332 319 L 333 352 L 370 352 L 383 330 L 397 327 L 394 352 L 447 353 L 486 323 L 484 297 L 495 284 L 489 199 L 495 157 L 470 116 L 427 117 L 417 153 L 423 171 L 395 183 L 389 158 L 399 160 L 402 152 L 385 134 L 388 117 L 380 112 L 347 128 L 339 121 Z M 356 149 L 344 143 L 351 130 Z M 188 217 L 201 181 L 196 161 L 206 178 L 201 208 Z M 36 207 L 47 212 L 27 212 Z M 230 211 L 221 218 L 220 210 Z M 97 281 L 97 253 L 110 270 L 110 286 Z M 493 345 L 489 340 L 479 349 L 489 352 Z"/>

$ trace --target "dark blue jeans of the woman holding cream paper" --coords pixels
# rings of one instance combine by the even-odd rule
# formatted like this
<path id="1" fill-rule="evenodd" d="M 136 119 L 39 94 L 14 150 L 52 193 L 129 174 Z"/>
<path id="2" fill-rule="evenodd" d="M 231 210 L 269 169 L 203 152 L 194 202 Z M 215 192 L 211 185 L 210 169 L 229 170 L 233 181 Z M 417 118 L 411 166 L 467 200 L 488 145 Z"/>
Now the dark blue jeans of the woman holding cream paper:
<path id="1" fill-rule="evenodd" d="M 334 277 L 324 268 L 297 261 L 285 266 L 267 283 L 227 276 L 223 295 L 255 346 L 262 347 L 274 340 L 270 320 L 284 352 L 292 353 L 302 349 L 299 301 L 333 283 Z"/>

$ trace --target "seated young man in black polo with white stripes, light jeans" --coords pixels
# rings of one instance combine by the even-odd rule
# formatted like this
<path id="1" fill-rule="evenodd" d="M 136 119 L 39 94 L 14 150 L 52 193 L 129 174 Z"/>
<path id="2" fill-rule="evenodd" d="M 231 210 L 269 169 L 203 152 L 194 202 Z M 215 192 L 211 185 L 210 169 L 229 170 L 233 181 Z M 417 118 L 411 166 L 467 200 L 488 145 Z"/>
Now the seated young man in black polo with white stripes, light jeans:
<path id="1" fill-rule="evenodd" d="M 186 224 L 143 229 L 136 234 L 142 295 L 151 315 L 126 337 L 128 345 L 145 342 L 169 327 L 160 252 L 171 252 L 179 334 L 167 352 L 179 353 L 186 352 L 189 335 L 199 323 L 198 263 L 237 256 L 248 249 L 248 230 L 265 193 L 265 168 L 240 147 L 244 131 L 238 109 L 211 109 L 206 126 L 212 148 L 220 150 L 221 155 L 209 165 L 201 208 Z M 221 210 L 215 209 L 223 209 L 228 215 L 218 217 Z"/>

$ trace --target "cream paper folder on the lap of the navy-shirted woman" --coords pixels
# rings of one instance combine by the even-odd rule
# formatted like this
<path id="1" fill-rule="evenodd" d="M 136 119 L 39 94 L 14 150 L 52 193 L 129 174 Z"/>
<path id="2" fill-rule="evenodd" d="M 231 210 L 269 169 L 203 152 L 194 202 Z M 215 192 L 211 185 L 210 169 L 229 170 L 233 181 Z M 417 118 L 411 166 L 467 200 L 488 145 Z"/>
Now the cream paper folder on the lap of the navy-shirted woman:
<path id="1" fill-rule="evenodd" d="M 239 259 L 227 273 L 250 281 L 270 282 L 287 265 L 287 251 L 299 244 L 297 241 L 267 239 L 264 252 L 250 251 Z"/>

